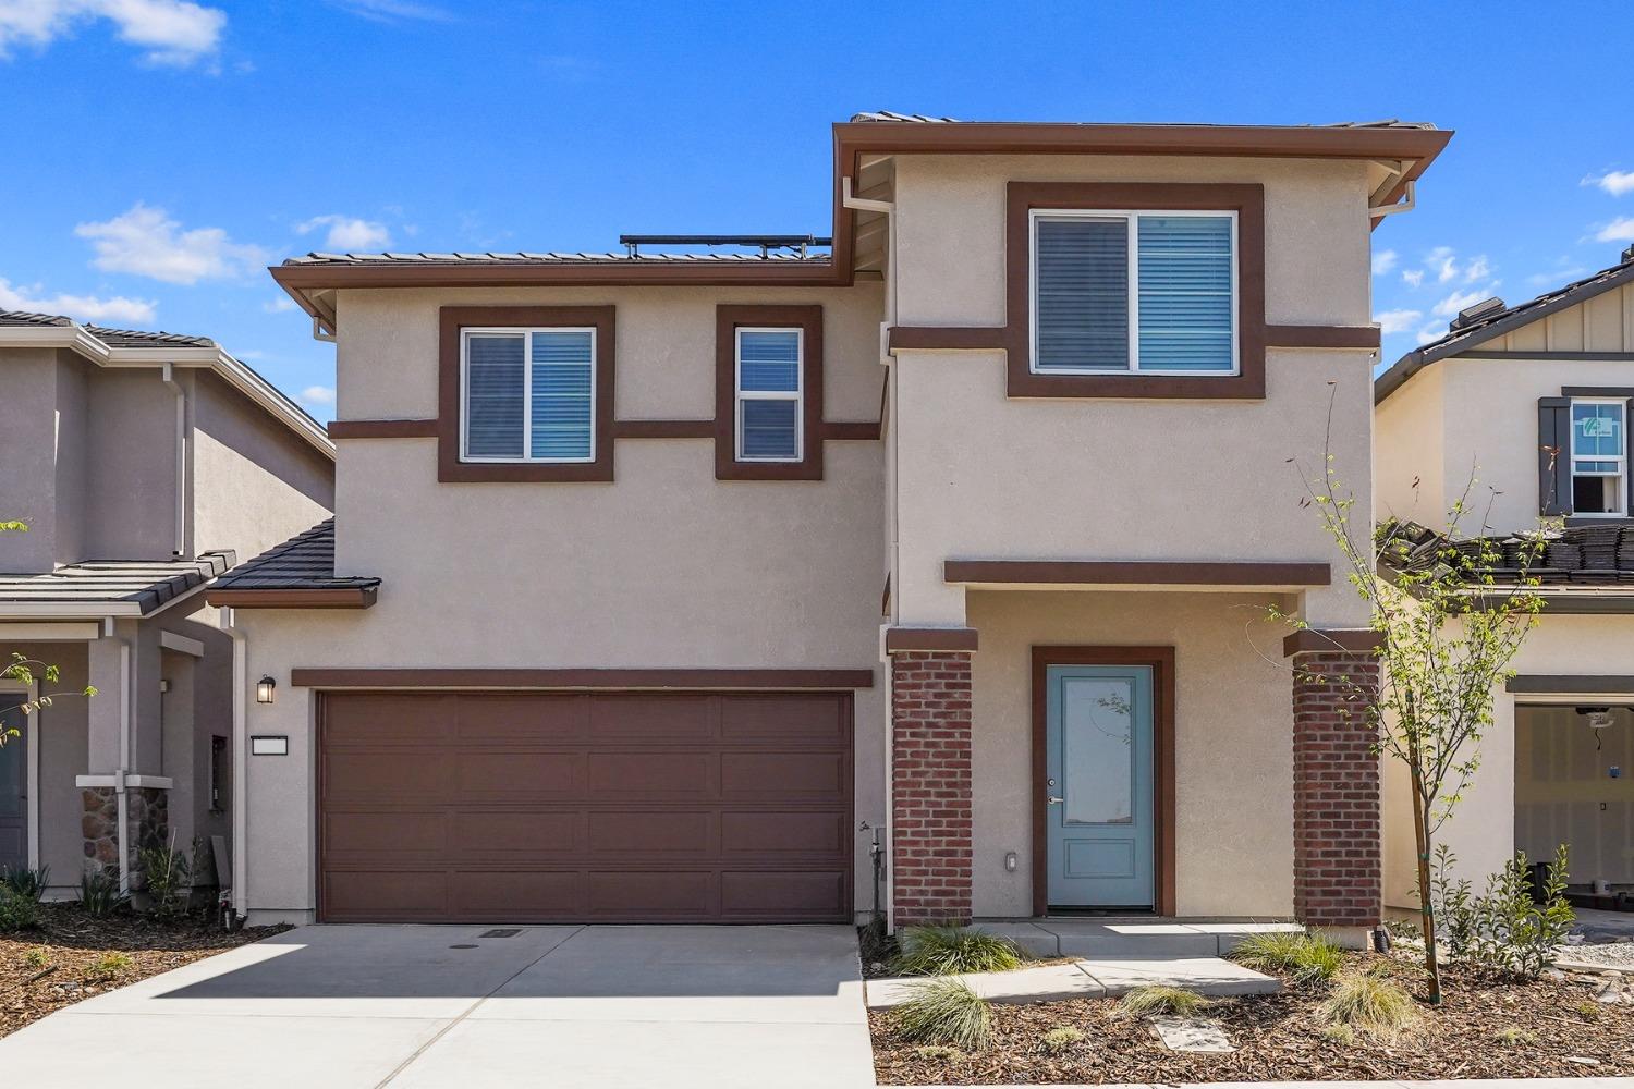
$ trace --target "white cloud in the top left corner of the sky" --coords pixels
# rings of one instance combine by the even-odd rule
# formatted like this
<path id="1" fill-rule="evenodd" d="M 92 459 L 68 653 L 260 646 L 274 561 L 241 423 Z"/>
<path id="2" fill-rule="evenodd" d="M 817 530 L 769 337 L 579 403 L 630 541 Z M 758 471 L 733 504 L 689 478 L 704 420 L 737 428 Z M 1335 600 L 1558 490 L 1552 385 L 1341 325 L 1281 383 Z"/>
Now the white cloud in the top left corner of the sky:
<path id="1" fill-rule="evenodd" d="M 0 0 L 0 57 L 16 44 L 44 49 L 96 20 L 145 49 L 149 64 L 175 67 L 212 57 L 227 26 L 225 11 L 191 0 Z"/>

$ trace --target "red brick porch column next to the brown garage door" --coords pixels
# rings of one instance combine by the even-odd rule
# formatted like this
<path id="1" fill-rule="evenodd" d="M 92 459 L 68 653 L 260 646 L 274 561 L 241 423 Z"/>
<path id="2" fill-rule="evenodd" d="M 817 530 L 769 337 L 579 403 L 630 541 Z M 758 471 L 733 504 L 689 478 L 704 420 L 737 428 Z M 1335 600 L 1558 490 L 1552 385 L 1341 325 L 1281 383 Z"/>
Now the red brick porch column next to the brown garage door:
<path id="1" fill-rule="evenodd" d="M 971 655 L 891 655 L 897 926 L 971 921 Z"/>

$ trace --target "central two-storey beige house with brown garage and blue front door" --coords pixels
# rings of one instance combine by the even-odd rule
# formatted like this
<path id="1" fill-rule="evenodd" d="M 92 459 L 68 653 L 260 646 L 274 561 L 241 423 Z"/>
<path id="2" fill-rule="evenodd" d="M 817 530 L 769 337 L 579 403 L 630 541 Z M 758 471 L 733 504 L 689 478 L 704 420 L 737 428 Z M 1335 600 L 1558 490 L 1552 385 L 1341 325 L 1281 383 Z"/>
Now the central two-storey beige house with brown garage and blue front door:
<path id="1" fill-rule="evenodd" d="M 1371 669 L 1302 470 L 1368 509 L 1369 229 L 1449 134 L 833 139 L 828 253 L 273 269 L 340 506 L 209 591 L 276 682 L 252 919 L 842 921 L 876 833 L 895 924 L 1377 919 L 1284 650 Z"/>

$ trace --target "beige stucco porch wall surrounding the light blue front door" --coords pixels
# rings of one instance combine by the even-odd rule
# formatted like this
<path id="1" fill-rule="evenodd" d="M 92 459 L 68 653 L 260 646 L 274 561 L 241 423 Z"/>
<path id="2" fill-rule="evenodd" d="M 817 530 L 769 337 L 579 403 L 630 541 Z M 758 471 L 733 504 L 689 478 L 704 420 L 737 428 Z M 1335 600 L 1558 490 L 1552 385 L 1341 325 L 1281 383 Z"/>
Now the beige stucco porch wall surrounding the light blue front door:
<path id="1" fill-rule="evenodd" d="M 1286 606 L 1212 593 L 971 594 L 979 918 L 1033 914 L 1031 648 L 1044 645 L 1175 648 L 1176 909 L 1292 914 L 1292 679 L 1271 602 Z"/>

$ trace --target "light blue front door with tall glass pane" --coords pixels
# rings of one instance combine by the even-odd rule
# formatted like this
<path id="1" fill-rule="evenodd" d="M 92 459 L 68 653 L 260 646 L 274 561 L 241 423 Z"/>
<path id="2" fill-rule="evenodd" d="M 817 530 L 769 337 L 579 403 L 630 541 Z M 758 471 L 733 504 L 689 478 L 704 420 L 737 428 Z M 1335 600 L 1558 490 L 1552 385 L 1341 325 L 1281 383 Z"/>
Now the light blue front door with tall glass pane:
<path id="1" fill-rule="evenodd" d="M 1049 666 L 1051 908 L 1152 908 L 1150 666 Z"/>

